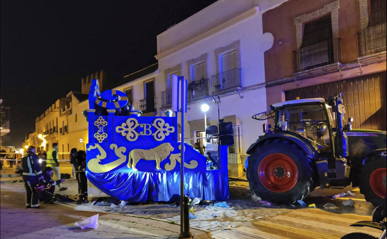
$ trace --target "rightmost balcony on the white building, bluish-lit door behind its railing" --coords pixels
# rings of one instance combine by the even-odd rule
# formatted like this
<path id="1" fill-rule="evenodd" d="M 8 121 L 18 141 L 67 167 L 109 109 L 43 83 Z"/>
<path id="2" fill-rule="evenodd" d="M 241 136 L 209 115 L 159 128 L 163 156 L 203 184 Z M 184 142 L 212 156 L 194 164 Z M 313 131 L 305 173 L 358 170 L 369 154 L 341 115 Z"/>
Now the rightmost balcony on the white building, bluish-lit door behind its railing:
<path id="1" fill-rule="evenodd" d="M 241 87 L 241 71 L 242 69 L 236 68 L 211 76 L 212 95 L 236 90 Z"/>

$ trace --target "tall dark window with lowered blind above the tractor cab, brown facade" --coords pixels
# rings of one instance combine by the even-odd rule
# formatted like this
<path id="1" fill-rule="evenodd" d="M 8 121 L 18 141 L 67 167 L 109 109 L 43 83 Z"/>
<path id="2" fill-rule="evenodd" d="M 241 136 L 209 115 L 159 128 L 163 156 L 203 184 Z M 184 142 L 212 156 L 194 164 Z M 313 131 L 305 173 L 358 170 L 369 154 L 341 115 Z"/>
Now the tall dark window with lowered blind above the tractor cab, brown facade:
<path id="1" fill-rule="evenodd" d="M 300 68 L 304 70 L 334 61 L 330 15 L 304 25 L 299 54 Z"/>

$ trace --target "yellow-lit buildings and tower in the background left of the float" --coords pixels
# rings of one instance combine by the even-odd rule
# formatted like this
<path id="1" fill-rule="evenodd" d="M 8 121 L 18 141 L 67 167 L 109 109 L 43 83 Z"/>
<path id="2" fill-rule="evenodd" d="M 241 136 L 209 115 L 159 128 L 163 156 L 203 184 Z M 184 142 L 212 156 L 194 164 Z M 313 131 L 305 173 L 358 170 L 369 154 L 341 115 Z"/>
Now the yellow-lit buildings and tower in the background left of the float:
<path id="1" fill-rule="evenodd" d="M 55 101 L 44 113 L 35 119 L 35 132 L 23 142 L 23 148 L 34 145 L 38 150 L 48 151 L 53 143 L 58 143 L 59 159 L 69 159 L 70 150 L 86 150 L 88 124 L 83 112 L 89 108 L 88 93 L 91 79 L 99 79 L 103 86 L 106 73 L 103 70 L 81 79 L 82 92 L 70 91 L 66 97 Z M 102 88 L 103 89 L 103 88 Z"/>

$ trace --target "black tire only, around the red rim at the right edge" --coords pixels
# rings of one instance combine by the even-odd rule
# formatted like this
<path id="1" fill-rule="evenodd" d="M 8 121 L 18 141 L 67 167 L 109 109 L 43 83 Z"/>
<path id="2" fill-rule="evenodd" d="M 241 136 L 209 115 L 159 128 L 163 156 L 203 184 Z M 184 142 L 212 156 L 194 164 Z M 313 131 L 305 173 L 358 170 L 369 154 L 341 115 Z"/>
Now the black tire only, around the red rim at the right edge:
<path id="1" fill-rule="evenodd" d="M 365 200 L 372 203 L 373 206 L 379 206 L 383 203 L 383 199 L 386 196 L 386 178 L 384 177 L 384 181 L 381 184 L 378 184 L 378 189 L 375 191 L 371 185 L 371 175 L 373 175 L 374 172 L 381 172 L 383 169 L 386 170 L 386 156 L 379 154 L 367 158 L 361 172 L 360 193 L 363 194 Z M 373 187 L 375 188 L 375 182 L 373 183 Z M 380 193 L 380 191 L 383 191 L 382 187 L 384 187 L 384 196 Z"/>

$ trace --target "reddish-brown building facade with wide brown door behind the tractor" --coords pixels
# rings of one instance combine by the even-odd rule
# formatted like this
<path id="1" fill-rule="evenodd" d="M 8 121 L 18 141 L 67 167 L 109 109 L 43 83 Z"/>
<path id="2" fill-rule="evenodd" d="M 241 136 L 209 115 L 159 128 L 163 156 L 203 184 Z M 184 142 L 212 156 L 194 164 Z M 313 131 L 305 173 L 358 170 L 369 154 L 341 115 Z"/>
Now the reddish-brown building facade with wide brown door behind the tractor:
<path id="1" fill-rule="evenodd" d="M 267 105 L 342 92 L 355 128 L 386 130 L 385 0 L 289 0 L 263 31 Z"/>

